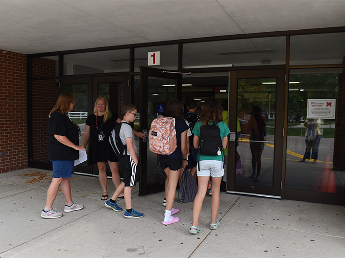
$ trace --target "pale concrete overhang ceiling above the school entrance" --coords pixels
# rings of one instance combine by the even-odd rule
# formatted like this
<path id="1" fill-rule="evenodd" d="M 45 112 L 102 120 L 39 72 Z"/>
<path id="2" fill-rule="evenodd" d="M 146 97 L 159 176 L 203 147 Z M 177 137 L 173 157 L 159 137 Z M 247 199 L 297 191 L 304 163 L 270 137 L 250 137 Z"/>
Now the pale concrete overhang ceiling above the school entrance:
<path id="1" fill-rule="evenodd" d="M 0 0 L 0 49 L 23 54 L 345 26 L 345 0 Z"/>

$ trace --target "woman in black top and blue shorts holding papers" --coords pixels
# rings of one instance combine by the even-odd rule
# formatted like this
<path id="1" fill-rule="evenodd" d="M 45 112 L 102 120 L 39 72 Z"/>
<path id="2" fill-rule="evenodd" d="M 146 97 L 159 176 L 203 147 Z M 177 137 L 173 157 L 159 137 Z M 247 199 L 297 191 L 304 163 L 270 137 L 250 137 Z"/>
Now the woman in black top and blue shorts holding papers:
<path id="1" fill-rule="evenodd" d="M 73 202 L 70 186 L 70 179 L 74 173 L 74 160 L 79 159 L 79 151 L 85 151 L 84 147 L 79 146 L 80 129 L 68 117 L 68 112 L 74 109 L 74 105 L 74 96 L 62 93 L 49 113 L 48 155 L 53 165 L 53 178 L 47 191 L 46 206 L 41 212 L 43 218 L 59 218 L 63 215 L 52 209 L 60 185 L 66 200 L 64 212 L 84 208 L 82 204 Z"/>

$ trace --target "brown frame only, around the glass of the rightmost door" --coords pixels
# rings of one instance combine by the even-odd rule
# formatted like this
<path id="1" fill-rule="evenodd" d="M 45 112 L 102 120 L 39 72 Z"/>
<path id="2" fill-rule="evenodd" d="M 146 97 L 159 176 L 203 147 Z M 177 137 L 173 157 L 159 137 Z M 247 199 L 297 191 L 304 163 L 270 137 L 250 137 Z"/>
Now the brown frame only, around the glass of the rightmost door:
<path id="1" fill-rule="evenodd" d="M 276 113 L 274 132 L 274 162 L 273 162 L 273 187 L 253 187 L 250 185 L 235 184 L 236 169 L 236 141 L 228 142 L 227 156 L 227 184 L 228 193 L 245 193 L 260 196 L 271 196 L 280 198 L 282 196 L 283 178 L 285 178 L 285 167 L 283 167 L 286 150 L 284 149 L 284 122 L 285 122 L 285 69 L 265 70 L 241 70 L 229 72 L 229 107 L 228 121 L 237 121 L 237 79 L 239 78 L 267 78 L 276 79 Z M 279 103 L 279 105 L 278 105 Z M 237 123 L 229 124 L 230 131 L 237 131 Z"/>

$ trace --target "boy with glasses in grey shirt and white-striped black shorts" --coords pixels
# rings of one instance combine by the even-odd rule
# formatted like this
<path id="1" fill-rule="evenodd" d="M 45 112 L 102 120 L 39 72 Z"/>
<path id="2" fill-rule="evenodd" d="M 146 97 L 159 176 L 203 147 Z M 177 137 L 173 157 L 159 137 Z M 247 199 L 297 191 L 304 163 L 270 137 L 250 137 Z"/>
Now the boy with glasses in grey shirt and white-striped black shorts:
<path id="1" fill-rule="evenodd" d="M 132 208 L 132 187 L 137 182 L 138 158 L 136 155 L 137 146 L 134 140 L 134 133 L 129 123 L 134 122 L 137 115 L 137 108 L 132 104 L 123 106 L 123 121 L 121 122 L 120 138 L 126 149 L 123 155 L 119 157 L 119 161 L 123 167 L 123 182 L 116 188 L 115 193 L 104 205 L 115 212 L 121 212 L 122 208 L 117 205 L 117 198 L 123 192 L 126 211 L 125 218 L 141 218 L 144 214 L 135 211 Z M 120 125 L 119 125 L 120 126 Z"/>

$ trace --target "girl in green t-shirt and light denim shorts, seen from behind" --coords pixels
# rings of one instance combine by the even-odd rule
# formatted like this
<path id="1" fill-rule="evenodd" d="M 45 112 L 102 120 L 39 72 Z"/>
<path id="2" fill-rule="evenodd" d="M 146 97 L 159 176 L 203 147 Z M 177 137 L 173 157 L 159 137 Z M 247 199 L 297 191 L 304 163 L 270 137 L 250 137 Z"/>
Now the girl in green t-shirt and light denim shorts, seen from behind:
<path id="1" fill-rule="evenodd" d="M 215 155 L 204 155 L 200 154 L 201 145 L 199 144 L 199 139 L 201 141 L 200 135 L 201 130 L 205 130 L 205 126 L 213 126 L 213 130 L 219 128 L 219 138 L 214 142 L 219 142 L 218 151 L 215 151 Z M 203 127 L 203 128 L 201 128 Z M 212 197 L 211 197 L 211 222 L 210 229 L 217 229 L 220 222 L 217 219 L 219 203 L 220 203 L 220 190 L 222 183 L 222 176 L 224 175 L 224 156 L 222 150 L 227 146 L 227 136 L 230 133 L 227 125 L 222 121 L 222 108 L 218 101 L 214 98 L 209 98 L 205 101 L 204 107 L 201 113 L 200 121 L 197 122 L 193 129 L 194 133 L 194 148 L 199 149 L 198 154 L 198 166 L 197 170 L 197 181 L 198 181 L 198 191 L 194 199 L 193 205 L 193 223 L 190 227 L 189 232 L 191 234 L 197 234 L 201 231 L 201 225 L 199 225 L 199 216 L 202 208 L 202 203 L 207 192 L 207 185 L 210 176 L 212 177 Z M 206 139 L 205 139 L 206 140 Z M 205 141 L 203 141 L 203 144 Z M 205 146 L 205 144 L 204 144 Z M 199 148 L 200 147 L 200 148 Z"/>

